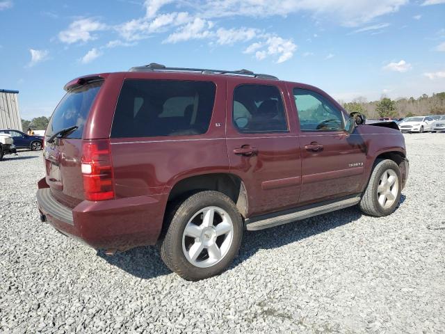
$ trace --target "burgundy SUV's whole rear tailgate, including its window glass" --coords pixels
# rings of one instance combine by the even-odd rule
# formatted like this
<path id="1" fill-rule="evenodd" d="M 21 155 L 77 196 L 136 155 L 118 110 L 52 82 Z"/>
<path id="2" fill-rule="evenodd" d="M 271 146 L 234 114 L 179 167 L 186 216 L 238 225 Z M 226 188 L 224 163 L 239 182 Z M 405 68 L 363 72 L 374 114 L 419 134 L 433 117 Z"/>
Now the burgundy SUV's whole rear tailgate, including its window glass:
<path id="1" fill-rule="evenodd" d="M 49 121 L 44 143 L 47 184 L 54 198 L 71 208 L 85 198 L 81 172 L 83 129 L 104 80 L 79 82 L 81 84 L 68 90 L 56 107 Z M 76 129 L 60 134 L 52 143 L 48 143 L 51 136 L 73 126 Z"/>

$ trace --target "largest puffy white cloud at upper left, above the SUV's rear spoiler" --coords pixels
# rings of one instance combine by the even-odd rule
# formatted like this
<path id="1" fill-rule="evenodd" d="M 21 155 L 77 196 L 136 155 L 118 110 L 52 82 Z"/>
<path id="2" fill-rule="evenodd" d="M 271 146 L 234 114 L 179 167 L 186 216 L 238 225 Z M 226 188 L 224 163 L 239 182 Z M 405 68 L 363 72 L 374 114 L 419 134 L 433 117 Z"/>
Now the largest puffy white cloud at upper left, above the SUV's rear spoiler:
<path id="1" fill-rule="evenodd" d="M 97 38 L 96 35 L 92 35 L 92 32 L 105 29 L 107 29 L 106 24 L 102 24 L 95 19 L 78 19 L 72 22 L 68 29 L 60 31 L 60 33 L 58 33 L 58 38 L 61 42 L 67 44 L 88 42 L 89 40 L 95 40 Z"/>

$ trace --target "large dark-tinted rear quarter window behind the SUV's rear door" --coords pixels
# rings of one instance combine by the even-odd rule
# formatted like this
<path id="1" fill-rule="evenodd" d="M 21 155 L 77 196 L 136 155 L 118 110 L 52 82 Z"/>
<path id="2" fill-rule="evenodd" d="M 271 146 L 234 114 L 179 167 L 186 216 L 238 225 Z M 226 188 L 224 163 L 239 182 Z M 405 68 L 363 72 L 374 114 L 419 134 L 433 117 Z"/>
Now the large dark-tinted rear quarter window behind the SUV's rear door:
<path id="1" fill-rule="evenodd" d="M 208 81 L 125 80 L 111 136 L 204 134 L 209 129 L 216 86 Z"/>

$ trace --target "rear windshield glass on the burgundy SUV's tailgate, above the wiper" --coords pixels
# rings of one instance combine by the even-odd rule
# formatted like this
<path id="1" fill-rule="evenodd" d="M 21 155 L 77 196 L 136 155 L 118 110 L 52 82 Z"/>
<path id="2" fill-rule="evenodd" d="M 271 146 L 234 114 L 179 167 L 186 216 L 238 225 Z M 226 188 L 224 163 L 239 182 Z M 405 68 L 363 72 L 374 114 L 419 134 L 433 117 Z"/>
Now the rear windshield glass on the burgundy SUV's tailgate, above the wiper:
<path id="1" fill-rule="evenodd" d="M 85 126 L 92 102 L 94 102 L 102 81 L 95 81 L 79 88 L 70 90 L 60 101 L 56 110 L 49 120 L 47 136 L 52 136 L 61 129 L 76 125 L 78 128 L 67 134 L 65 138 L 82 138 L 83 127 Z"/>

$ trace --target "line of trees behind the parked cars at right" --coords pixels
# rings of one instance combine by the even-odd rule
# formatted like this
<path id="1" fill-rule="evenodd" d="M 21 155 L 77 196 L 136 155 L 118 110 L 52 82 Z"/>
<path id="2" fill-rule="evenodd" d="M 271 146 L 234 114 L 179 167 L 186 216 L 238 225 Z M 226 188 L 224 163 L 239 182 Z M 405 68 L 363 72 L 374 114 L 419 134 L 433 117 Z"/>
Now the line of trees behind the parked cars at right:
<path id="1" fill-rule="evenodd" d="M 364 97 L 358 97 L 353 102 L 344 103 L 343 107 L 350 111 L 363 113 L 366 118 L 405 118 L 412 116 L 445 115 L 445 92 L 423 94 L 421 97 L 409 99 L 401 97 L 391 100 L 383 96 L 380 101 L 368 102 Z"/>

